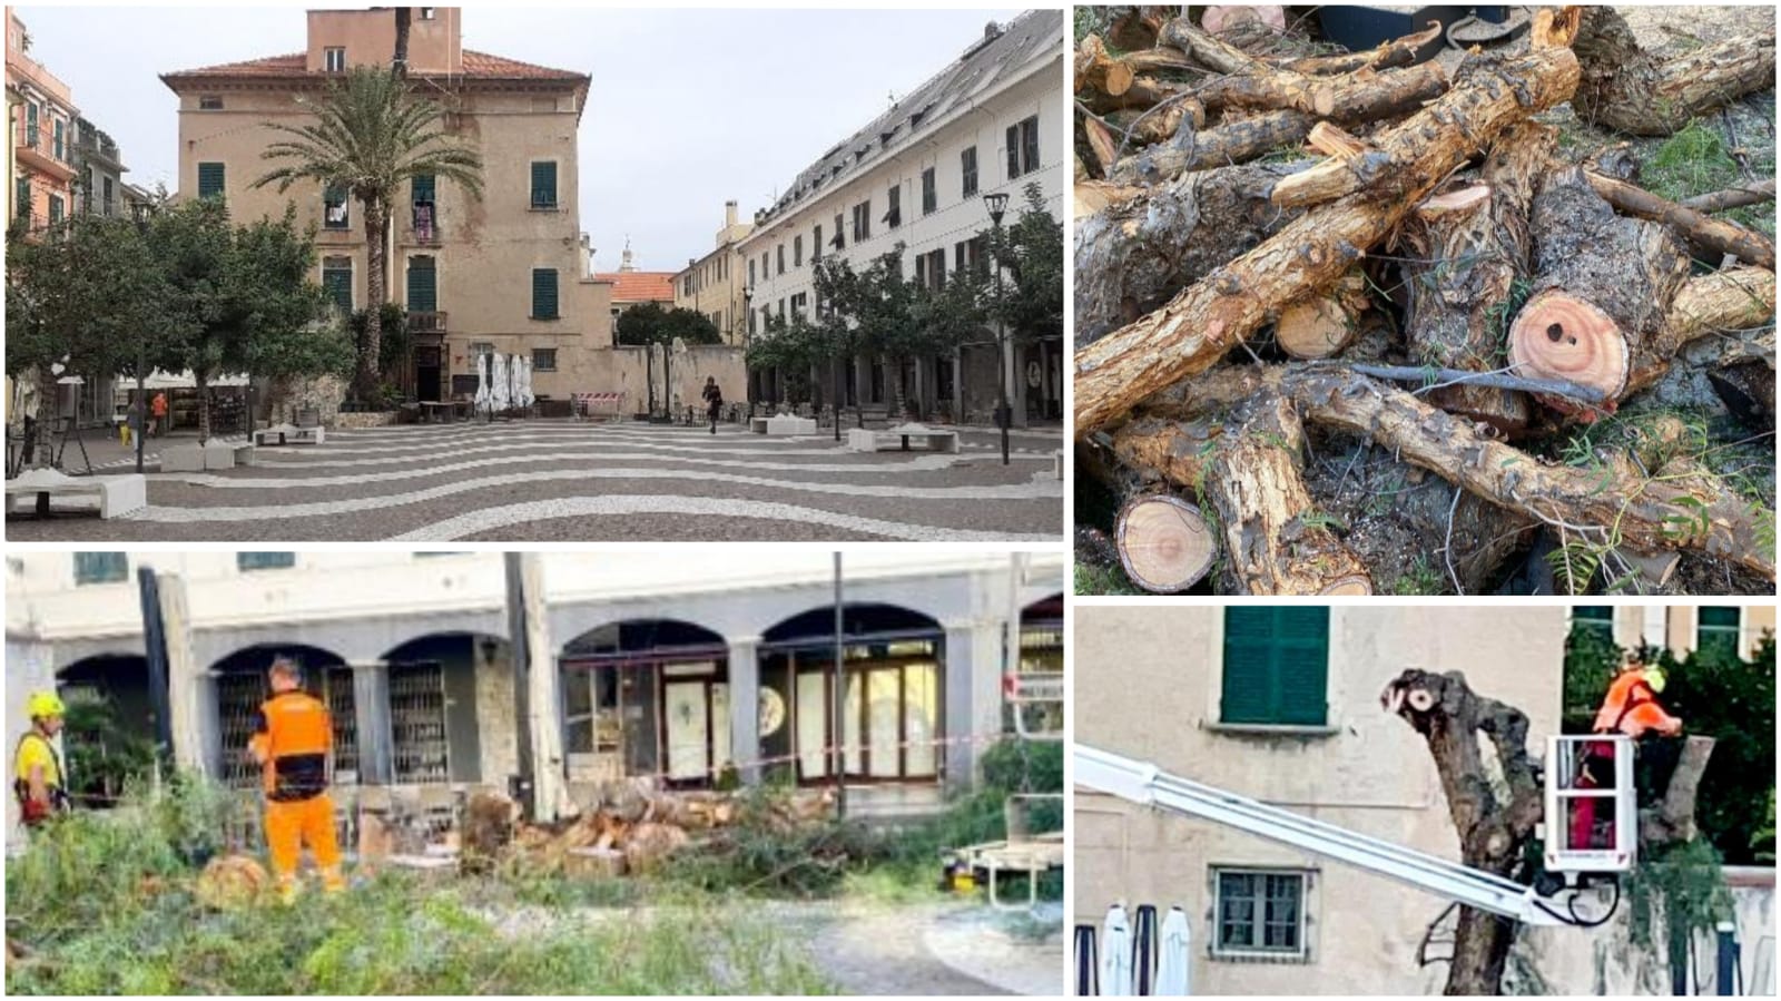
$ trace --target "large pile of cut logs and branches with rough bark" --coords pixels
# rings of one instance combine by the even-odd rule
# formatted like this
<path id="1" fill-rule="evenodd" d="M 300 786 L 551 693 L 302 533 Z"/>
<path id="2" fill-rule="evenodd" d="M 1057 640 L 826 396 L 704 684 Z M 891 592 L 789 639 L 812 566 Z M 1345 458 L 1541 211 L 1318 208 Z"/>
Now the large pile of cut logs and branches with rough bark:
<path id="1" fill-rule="evenodd" d="M 1674 132 L 1772 85 L 1772 27 L 1662 61 L 1614 9 L 1541 9 L 1448 71 L 1416 62 L 1441 25 L 1268 59 L 1168 11 L 1126 9 L 1076 52 L 1078 468 L 1120 500 L 1133 582 L 1371 593 L 1307 488 L 1307 424 L 1452 484 L 1421 536 L 1452 591 L 1542 527 L 1592 552 L 1573 593 L 1660 586 L 1685 550 L 1774 581 L 1772 511 L 1687 449 L 1519 447 L 1615 413 L 1690 342 L 1772 324 L 1772 240 L 1713 217 L 1772 180 L 1671 203 L 1539 121 L 1569 103 Z M 1772 422 L 1758 344 L 1740 385 Z"/>

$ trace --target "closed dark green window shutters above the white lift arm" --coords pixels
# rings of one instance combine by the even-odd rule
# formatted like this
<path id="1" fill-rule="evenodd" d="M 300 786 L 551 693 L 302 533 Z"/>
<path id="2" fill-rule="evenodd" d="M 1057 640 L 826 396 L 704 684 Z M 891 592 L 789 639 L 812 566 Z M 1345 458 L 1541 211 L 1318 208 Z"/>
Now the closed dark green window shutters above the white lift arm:
<path id="1" fill-rule="evenodd" d="M 1327 607 L 1225 609 L 1220 721 L 1327 725 L 1329 647 Z"/>

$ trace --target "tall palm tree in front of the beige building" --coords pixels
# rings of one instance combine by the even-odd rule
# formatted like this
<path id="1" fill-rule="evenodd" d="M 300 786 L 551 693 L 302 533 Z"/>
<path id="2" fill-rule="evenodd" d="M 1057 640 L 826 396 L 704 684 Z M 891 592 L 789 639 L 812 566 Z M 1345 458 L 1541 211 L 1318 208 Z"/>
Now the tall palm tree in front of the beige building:
<path id="1" fill-rule="evenodd" d="M 262 157 L 289 162 L 253 182 L 253 187 L 276 182 L 283 194 L 299 180 L 313 180 L 324 189 L 349 192 L 363 208 L 370 303 L 353 394 L 369 401 L 378 392 L 379 376 L 383 331 L 378 313 L 388 299 L 383 269 L 390 207 L 403 182 L 417 175 L 451 180 L 470 198 L 481 198 L 483 159 L 447 137 L 445 109 L 415 96 L 406 80 L 383 66 L 353 68 L 313 107 L 315 121 L 310 125 L 265 123 L 290 139 L 269 144 Z"/>

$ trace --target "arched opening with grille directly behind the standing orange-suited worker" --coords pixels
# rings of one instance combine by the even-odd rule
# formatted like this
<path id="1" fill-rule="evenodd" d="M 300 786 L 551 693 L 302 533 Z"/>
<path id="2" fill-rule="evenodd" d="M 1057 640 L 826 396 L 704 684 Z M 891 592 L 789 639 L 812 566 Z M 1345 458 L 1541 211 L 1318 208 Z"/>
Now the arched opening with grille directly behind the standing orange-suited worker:
<path id="1" fill-rule="evenodd" d="M 260 704 L 272 695 L 267 668 L 276 659 L 294 663 L 303 688 L 328 704 L 335 737 L 335 785 L 358 784 L 358 712 L 353 670 L 331 650 L 305 643 L 256 643 L 210 666 L 216 691 L 216 734 L 221 741 L 217 775 L 232 789 L 260 785 L 260 766 L 248 755 L 248 741 L 260 727 Z"/>

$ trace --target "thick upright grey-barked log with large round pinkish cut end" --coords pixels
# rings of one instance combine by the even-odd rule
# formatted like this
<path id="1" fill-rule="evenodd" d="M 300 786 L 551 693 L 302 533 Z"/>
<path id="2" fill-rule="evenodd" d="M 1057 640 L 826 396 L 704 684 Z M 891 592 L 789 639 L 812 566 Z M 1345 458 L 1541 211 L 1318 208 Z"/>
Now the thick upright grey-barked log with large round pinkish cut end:
<path id="1" fill-rule="evenodd" d="M 1537 379 L 1567 379 L 1606 394 L 1612 413 L 1628 392 L 1633 356 L 1663 331 L 1688 278 L 1688 255 L 1667 228 L 1626 219 L 1580 167 L 1548 175 L 1533 198 L 1533 287 L 1509 328 L 1509 362 Z M 1562 413 L 1580 408 L 1541 397 Z"/>

